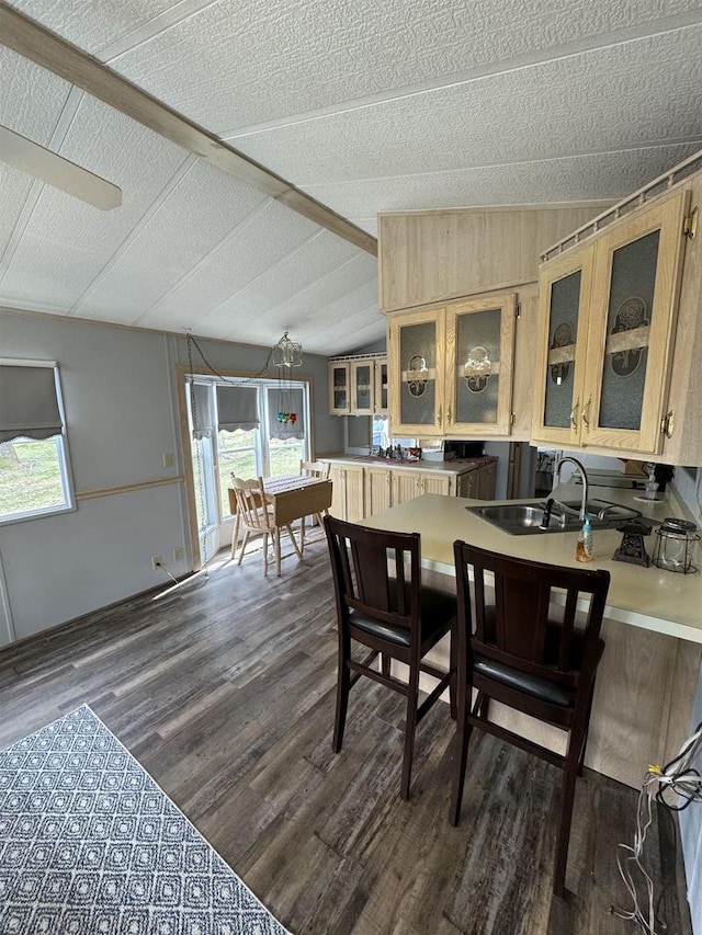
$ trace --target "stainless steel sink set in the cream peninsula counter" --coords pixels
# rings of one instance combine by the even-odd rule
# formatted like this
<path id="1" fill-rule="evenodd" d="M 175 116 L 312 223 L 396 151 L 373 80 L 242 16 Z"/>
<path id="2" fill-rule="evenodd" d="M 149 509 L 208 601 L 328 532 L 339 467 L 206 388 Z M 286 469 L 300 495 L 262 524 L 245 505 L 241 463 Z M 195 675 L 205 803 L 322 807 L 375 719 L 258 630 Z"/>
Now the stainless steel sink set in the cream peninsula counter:
<path id="1" fill-rule="evenodd" d="M 530 503 L 490 503 L 465 509 L 512 536 L 567 533 L 580 528 L 580 503 L 554 503 L 548 525 L 543 528 L 545 506 L 544 500 L 534 500 Z M 586 509 L 593 529 L 612 529 L 626 520 L 641 516 L 638 510 L 609 500 L 588 500 Z"/>

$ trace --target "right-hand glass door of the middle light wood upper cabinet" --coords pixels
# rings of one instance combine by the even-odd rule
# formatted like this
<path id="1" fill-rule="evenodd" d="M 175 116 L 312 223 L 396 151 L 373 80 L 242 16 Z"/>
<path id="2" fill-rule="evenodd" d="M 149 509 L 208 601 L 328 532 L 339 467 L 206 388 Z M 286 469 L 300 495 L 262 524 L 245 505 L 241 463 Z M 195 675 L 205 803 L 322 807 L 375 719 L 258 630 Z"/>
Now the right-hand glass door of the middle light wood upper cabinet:
<path id="1" fill-rule="evenodd" d="M 517 296 L 446 307 L 446 435 L 509 435 Z"/>

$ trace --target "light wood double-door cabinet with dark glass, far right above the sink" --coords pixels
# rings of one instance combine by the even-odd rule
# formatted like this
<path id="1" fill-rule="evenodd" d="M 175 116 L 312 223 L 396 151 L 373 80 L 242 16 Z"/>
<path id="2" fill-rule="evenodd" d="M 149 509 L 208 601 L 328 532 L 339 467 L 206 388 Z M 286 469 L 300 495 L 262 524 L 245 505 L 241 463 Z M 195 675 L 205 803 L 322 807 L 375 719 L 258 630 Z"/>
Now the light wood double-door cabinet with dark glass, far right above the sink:
<path id="1" fill-rule="evenodd" d="M 542 266 L 532 441 L 663 451 L 688 201 L 661 196 Z"/>

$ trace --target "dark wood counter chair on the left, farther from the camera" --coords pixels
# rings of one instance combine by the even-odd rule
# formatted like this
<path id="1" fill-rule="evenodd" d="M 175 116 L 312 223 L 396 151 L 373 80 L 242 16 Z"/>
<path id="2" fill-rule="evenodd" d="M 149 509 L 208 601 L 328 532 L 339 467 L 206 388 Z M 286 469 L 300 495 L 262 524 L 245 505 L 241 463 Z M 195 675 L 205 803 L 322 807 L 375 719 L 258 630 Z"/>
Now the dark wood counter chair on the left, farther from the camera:
<path id="1" fill-rule="evenodd" d="M 341 750 L 349 693 L 361 675 L 404 695 L 407 715 L 400 795 L 407 799 L 416 727 L 446 687 L 455 715 L 454 640 L 448 672 L 424 662 L 429 650 L 454 628 L 455 596 L 422 584 L 419 533 L 371 529 L 333 516 L 325 516 L 324 525 L 339 635 L 333 750 L 336 753 Z M 361 643 L 371 651 L 358 661 L 351 653 L 352 643 Z M 380 670 L 374 666 L 378 657 Z M 393 675 L 392 660 L 409 668 L 408 682 Z M 421 704 L 420 672 L 438 680 Z"/>

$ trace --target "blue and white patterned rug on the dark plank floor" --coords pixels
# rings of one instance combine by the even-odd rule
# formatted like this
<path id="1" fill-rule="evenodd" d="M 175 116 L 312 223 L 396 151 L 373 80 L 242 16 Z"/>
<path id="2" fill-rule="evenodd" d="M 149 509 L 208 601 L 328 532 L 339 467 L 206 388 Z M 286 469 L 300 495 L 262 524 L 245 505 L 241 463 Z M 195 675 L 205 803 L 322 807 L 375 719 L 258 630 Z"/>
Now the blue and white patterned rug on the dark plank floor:
<path id="1" fill-rule="evenodd" d="M 0 935 L 286 935 L 83 705 L 0 751 Z"/>

